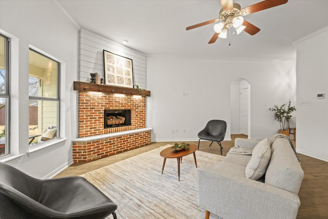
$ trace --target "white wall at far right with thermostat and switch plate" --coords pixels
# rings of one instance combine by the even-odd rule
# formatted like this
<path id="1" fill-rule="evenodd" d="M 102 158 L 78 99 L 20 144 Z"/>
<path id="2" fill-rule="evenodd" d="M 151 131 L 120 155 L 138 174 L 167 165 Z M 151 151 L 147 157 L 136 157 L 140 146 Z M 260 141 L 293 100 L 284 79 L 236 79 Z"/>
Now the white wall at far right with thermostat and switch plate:
<path id="1" fill-rule="evenodd" d="M 297 152 L 328 161 L 328 27 L 297 42 Z M 324 99 L 317 94 L 324 93 Z M 310 106 L 301 106 L 310 101 Z"/>

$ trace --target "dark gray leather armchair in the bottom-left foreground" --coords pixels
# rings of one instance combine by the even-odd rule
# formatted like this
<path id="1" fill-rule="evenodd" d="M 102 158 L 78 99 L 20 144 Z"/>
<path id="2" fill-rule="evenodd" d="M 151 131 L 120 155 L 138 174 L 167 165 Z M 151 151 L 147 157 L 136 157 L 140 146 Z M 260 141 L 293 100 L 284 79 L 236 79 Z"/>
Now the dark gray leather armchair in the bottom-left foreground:
<path id="1" fill-rule="evenodd" d="M 0 218 L 116 218 L 117 205 L 79 176 L 38 180 L 0 162 Z"/>

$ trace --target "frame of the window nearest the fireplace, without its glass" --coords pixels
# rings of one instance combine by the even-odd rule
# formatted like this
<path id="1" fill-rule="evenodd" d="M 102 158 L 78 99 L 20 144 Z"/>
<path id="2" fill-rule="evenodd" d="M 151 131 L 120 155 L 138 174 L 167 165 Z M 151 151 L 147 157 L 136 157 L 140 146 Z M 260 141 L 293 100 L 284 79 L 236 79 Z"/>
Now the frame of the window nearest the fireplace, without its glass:
<path id="1" fill-rule="evenodd" d="M 38 148 L 38 146 L 40 145 L 44 145 L 50 141 L 54 141 L 54 140 L 58 140 L 60 138 L 60 72 L 61 72 L 61 65 L 60 65 L 60 62 L 58 60 L 56 60 L 55 58 L 53 58 L 51 55 L 45 53 L 45 52 L 42 52 L 36 48 L 32 48 L 30 46 L 29 48 L 29 51 L 32 50 L 33 52 L 36 52 L 40 55 L 43 55 L 49 59 L 51 59 L 52 61 L 56 62 L 57 63 L 57 97 L 56 98 L 52 98 L 52 97 L 42 97 L 42 96 L 30 96 L 29 95 L 29 101 L 30 100 L 34 100 L 34 101 L 51 101 L 51 102 L 56 102 L 57 103 L 57 132 L 56 132 L 56 137 L 51 139 L 51 140 L 48 140 L 48 141 L 45 141 L 45 142 L 38 142 L 34 145 L 29 145 L 29 148 L 30 149 L 35 149 L 35 148 Z M 30 75 L 30 72 L 29 72 L 29 75 Z"/>

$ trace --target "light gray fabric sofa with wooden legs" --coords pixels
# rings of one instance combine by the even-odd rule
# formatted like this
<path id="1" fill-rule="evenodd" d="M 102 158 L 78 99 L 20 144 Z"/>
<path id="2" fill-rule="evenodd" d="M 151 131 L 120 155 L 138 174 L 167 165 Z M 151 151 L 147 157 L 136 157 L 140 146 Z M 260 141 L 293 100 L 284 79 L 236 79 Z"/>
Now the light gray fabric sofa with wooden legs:
<path id="1" fill-rule="evenodd" d="M 255 147 L 259 141 L 236 138 L 236 146 Z M 198 202 L 223 219 L 296 218 L 300 206 L 298 191 L 304 172 L 286 138 L 271 146 L 265 175 L 259 180 L 245 176 L 251 155 L 228 154 L 215 168 L 197 171 Z"/>

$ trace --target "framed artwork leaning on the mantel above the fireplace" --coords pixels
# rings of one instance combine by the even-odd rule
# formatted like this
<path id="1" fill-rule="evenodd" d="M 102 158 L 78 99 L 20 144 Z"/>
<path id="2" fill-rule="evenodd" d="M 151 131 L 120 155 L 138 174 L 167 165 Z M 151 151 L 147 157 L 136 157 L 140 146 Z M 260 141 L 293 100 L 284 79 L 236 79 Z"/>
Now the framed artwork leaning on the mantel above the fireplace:
<path id="1" fill-rule="evenodd" d="M 105 84 L 133 88 L 132 59 L 104 50 Z"/>

